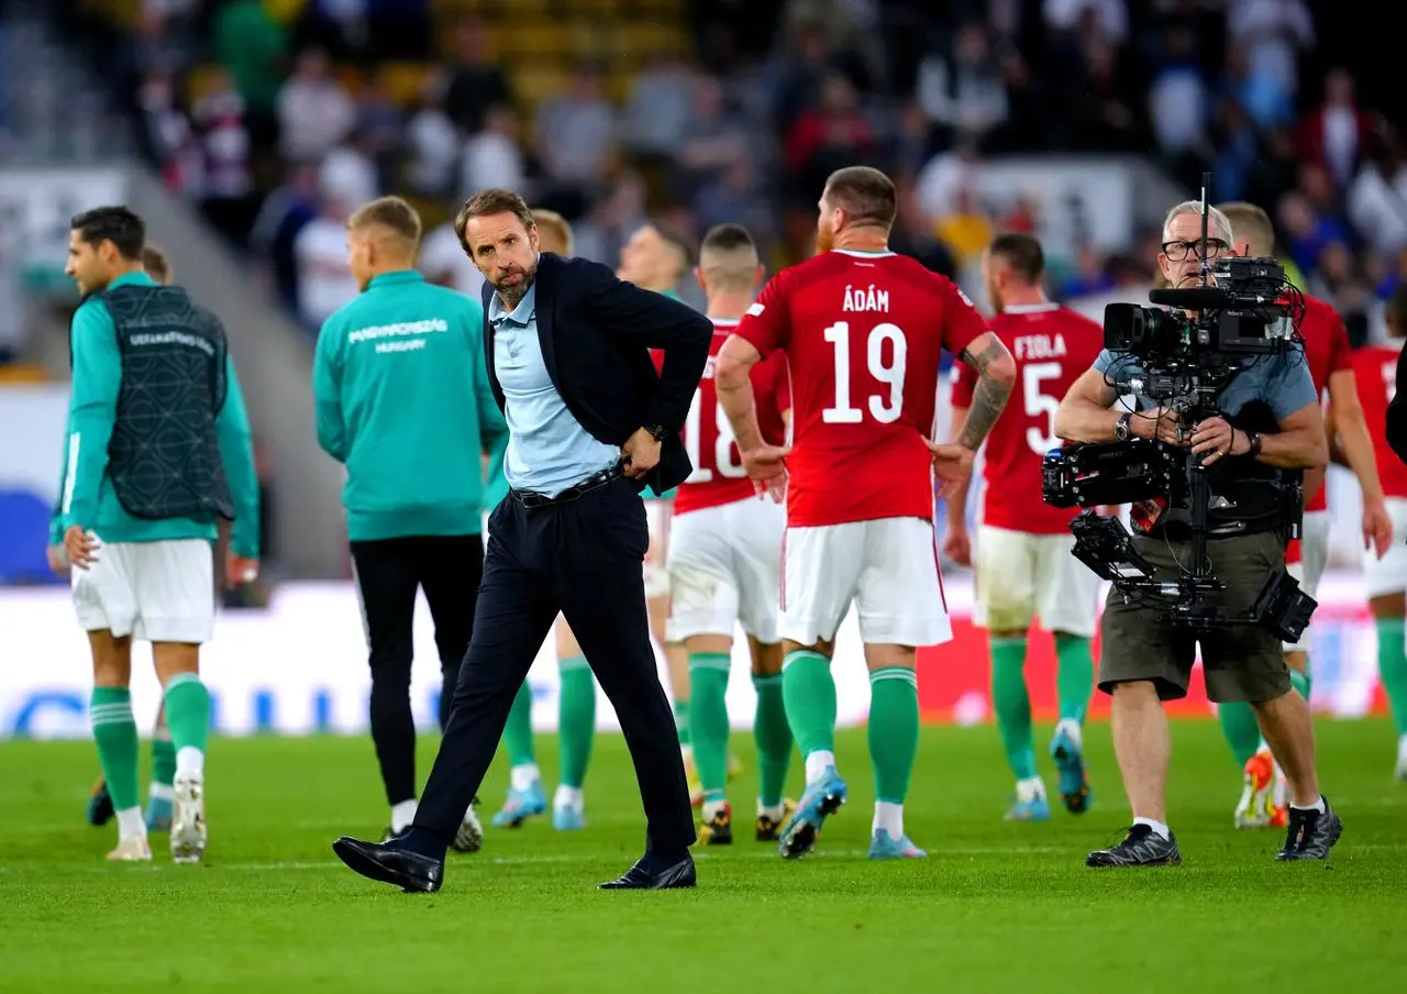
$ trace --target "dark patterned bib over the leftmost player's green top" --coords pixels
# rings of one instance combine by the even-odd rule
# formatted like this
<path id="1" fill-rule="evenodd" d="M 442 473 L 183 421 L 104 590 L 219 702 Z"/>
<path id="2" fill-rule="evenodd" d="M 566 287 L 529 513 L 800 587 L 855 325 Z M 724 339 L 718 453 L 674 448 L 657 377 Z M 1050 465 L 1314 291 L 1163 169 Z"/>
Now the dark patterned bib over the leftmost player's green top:
<path id="1" fill-rule="evenodd" d="M 225 329 L 180 287 L 120 286 L 101 300 L 122 356 L 107 470 L 118 501 L 134 518 L 232 520 L 215 436 Z"/>

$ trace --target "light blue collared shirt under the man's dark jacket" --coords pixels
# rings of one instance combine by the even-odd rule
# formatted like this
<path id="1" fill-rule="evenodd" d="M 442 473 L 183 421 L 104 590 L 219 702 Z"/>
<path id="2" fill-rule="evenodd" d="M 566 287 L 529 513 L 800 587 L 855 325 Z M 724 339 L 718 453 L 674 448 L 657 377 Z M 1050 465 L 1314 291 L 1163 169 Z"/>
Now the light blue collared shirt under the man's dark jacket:
<path id="1" fill-rule="evenodd" d="M 508 313 L 495 293 L 488 301 L 494 327 L 494 367 L 504 389 L 508 452 L 504 476 L 514 490 L 556 497 L 620 460 L 620 449 L 582 428 L 547 375 L 537 339 L 537 287 L 529 287 Z"/>

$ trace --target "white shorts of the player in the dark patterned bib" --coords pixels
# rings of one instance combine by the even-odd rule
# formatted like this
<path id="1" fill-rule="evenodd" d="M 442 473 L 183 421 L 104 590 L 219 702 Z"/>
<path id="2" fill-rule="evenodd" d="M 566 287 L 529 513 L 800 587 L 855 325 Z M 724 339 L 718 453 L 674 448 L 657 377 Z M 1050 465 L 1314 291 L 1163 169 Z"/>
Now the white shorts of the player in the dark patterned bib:
<path id="1" fill-rule="evenodd" d="M 94 536 L 97 538 L 97 536 Z M 146 642 L 210 641 L 215 631 L 215 552 L 203 538 L 103 542 L 97 562 L 73 569 L 73 607 L 84 631 Z"/>

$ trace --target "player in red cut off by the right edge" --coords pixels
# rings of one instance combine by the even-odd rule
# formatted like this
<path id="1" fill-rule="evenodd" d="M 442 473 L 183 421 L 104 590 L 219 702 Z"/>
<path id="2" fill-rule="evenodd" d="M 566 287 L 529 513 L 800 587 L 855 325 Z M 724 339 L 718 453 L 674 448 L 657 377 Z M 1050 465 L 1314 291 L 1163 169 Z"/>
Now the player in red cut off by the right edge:
<path id="1" fill-rule="evenodd" d="M 1399 286 L 1387 301 L 1389 345 L 1365 345 L 1354 353 L 1354 376 L 1363 414 L 1370 425 L 1387 424 L 1387 404 L 1397 394 L 1397 372 L 1407 338 L 1407 287 Z M 1337 427 L 1337 425 L 1335 425 Z M 1377 473 L 1387 494 L 1393 531 L 1407 535 L 1407 466 L 1387 446 L 1386 432 L 1373 435 Z M 1403 614 L 1407 607 L 1407 545 L 1394 542 L 1386 555 L 1365 556 L 1363 580 L 1377 625 L 1377 673 L 1397 722 L 1396 777 L 1407 780 L 1407 655 Z"/>

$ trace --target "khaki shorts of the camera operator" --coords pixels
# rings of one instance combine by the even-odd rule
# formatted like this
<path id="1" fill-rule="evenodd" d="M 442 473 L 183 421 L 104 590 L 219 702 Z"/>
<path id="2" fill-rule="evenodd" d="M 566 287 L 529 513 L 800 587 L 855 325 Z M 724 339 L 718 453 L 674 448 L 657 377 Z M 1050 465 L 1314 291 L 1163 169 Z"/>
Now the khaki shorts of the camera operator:
<path id="1" fill-rule="evenodd" d="M 1190 563 L 1192 546 L 1154 538 L 1134 538 L 1134 548 L 1162 581 L 1175 581 L 1178 563 Z M 1207 542 L 1211 572 L 1225 590 L 1209 601 L 1231 614 L 1241 614 L 1255 601 L 1266 577 L 1285 566 L 1285 542 L 1275 532 L 1238 535 Z M 1188 694 L 1192 663 L 1202 645 L 1202 669 L 1207 697 L 1217 703 L 1271 701 L 1290 690 L 1280 641 L 1259 625 L 1235 625 L 1218 632 L 1197 634 L 1158 619 L 1159 608 L 1124 604 L 1117 590 L 1109 591 L 1100 621 L 1103 645 L 1099 653 L 1099 688 L 1112 694 L 1120 683 L 1151 680 L 1158 697 L 1173 701 Z"/>

